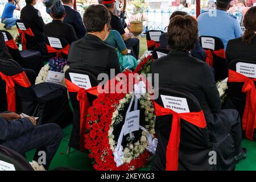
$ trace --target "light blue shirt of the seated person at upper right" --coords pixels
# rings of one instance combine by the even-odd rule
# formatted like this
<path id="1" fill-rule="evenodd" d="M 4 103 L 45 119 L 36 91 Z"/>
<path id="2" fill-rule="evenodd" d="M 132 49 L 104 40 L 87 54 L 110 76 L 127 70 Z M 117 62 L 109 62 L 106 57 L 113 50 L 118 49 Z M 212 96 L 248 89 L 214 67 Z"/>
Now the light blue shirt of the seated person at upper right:
<path id="1" fill-rule="evenodd" d="M 216 36 L 220 38 L 226 49 L 228 41 L 240 38 L 242 29 L 240 23 L 232 15 L 223 10 L 217 10 L 216 16 L 208 12 L 201 14 L 198 19 L 199 36 Z"/>

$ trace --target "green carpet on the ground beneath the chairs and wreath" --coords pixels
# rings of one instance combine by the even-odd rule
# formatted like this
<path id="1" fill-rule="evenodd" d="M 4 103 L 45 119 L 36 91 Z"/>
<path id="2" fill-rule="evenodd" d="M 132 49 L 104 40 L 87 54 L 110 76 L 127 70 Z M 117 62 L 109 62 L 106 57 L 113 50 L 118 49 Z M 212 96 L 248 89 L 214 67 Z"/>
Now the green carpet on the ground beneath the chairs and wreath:
<path id="1" fill-rule="evenodd" d="M 80 151 L 71 149 L 70 154 L 67 153 L 68 139 L 71 134 L 72 126 L 69 126 L 63 130 L 64 139 L 61 141 L 59 150 L 56 152 L 55 157 L 52 160 L 49 170 L 56 167 L 70 167 L 80 170 L 94 170 L 92 165 L 92 160 L 88 158 L 88 154 Z M 241 163 L 237 164 L 237 171 L 253 171 L 256 170 L 256 142 L 251 142 L 249 140 L 243 140 L 242 146 L 247 148 L 247 158 Z M 35 150 L 27 152 L 27 160 L 31 161 L 35 154 Z M 146 167 L 139 169 L 140 171 L 150 170 L 151 164 L 147 164 Z"/>

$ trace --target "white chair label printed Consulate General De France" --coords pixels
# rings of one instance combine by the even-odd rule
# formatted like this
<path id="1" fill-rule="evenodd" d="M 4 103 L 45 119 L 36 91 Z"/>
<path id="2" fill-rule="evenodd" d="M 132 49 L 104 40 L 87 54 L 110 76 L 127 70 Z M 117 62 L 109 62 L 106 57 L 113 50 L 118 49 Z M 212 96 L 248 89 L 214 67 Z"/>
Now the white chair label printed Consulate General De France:
<path id="1" fill-rule="evenodd" d="M 188 102 L 186 98 L 161 95 L 164 108 L 171 109 L 176 113 L 189 113 Z"/>

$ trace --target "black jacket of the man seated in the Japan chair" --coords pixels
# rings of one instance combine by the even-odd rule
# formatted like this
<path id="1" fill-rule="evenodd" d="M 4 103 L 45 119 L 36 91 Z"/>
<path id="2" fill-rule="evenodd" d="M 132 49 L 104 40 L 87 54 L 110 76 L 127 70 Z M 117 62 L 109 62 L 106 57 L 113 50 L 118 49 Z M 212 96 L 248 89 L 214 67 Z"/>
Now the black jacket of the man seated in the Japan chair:
<path id="1" fill-rule="evenodd" d="M 72 43 L 68 62 L 70 68 L 85 69 L 96 78 L 100 73 L 107 73 L 110 76 L 110 69 L 115 69 L 115 75 L 120 72 L 115 48 L 92 34 L 86 34 L 84 38 Z"/>

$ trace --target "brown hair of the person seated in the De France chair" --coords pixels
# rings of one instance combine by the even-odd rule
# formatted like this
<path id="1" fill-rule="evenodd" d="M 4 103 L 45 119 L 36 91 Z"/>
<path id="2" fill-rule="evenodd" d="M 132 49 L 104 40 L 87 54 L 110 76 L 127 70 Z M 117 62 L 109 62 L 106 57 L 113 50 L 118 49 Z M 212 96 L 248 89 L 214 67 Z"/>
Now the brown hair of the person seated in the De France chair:
<path id="1" fill-rule="evenodd" d="M 198 40 L 196 19 L 189 15 L 175 16 L 170 20 L 167 38 L 168 48 L 190 51 Z"/>

